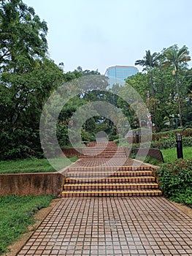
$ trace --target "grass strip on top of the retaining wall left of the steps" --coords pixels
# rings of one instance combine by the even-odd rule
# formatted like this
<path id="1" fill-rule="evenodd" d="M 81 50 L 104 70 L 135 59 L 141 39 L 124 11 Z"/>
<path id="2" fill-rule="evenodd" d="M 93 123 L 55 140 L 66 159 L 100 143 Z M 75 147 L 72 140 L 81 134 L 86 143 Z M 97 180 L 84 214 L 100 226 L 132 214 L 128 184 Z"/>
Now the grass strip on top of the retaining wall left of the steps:
<path id="1" fill-rule="evenodd" d="M 60 158 L 61 159 L 61 158 Z M 77 157 L 69 158 L 72 162 L 77 161 Z M 56 159 L 59 161 L 59 158 Z M 66 159 L 62 157 L 62 167 L 68 165 Z M 0 161 L 0 173 L 45 173 L 55 172 L 47 159 L 17 159 L 9 161 Z"/>

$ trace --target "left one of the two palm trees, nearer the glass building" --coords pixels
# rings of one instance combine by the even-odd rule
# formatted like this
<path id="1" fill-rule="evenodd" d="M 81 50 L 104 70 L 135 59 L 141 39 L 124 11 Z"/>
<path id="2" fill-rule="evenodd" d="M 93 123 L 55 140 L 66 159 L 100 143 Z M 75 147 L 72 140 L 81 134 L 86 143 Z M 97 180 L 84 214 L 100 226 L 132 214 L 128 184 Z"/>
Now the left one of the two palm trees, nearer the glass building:
<path id="1" fill-rule="evenodd" d="M 153 68 L 158 67 L 158 59 L 160 58 L 160 53 L 150 53 L 150 50 L 146 50 L 146 55 L 143 59 L 138 59 L 135 61 L 135 65 L 141 65 L 144 67 L 143 70 L 147 70 L 150 72 L 150 88 L 151 95 L 154 97 L 154 88 L 153 88 Z M 156 106 L 153 105 L 154 118 L 155 118 L 155 130 L 157 130 L 157 118 L 156 118 Z"/>

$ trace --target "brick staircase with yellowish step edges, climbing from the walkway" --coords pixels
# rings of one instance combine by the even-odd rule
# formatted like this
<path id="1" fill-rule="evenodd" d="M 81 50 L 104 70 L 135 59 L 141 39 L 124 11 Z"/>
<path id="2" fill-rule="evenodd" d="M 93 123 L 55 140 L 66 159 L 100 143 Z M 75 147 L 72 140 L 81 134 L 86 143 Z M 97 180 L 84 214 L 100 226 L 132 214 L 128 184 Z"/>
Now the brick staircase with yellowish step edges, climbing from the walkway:
<path id="1" fill-rule="evenodd" d="M 123 147 L 115 143 L 91 143 L 80 162 L 69 167 L 64 179 L 62 197 L 158 196 L 153 168 L 137 166 L 129 159 L 124 166 L 105 165 L 106 159 L 126 158 Z M 104 162 L 104 165 L 99 165 Z M 99 163 L 99 164 L 98 164 Z M 131 163 L 131 165 L 130 165 Z M 92 165 L 92 166 L 91 166 Z"/>

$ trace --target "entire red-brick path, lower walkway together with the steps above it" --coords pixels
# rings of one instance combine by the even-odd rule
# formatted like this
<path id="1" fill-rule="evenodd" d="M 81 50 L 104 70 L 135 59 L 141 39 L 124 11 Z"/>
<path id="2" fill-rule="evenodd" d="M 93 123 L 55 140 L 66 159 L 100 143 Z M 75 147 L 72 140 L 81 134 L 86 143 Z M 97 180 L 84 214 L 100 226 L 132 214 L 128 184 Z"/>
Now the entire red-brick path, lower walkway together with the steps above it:
<path id="1" fill-rule="evenodd" d="M 70 197 L 58 202 L 18 256 L 192 255 L 192 219 L 158 197 L 150 167 L 128 159 L 115 143 L 106 145 L 91 143 L 66 170 L 62 196 Z"/>

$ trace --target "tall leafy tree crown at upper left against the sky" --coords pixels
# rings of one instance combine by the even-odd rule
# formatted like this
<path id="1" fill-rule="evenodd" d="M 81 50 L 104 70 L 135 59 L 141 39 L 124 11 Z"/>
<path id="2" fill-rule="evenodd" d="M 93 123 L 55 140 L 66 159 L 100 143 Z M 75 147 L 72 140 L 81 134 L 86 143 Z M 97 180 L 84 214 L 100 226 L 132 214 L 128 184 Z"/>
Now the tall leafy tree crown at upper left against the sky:
<path id="1" fill-rule="evenodd" d="M 0 4 L 0 70 L 26 72 L 47 52 L 47 24 L 22 0 Z M 22 62 L 22 66 L 20 63 Z"/>

